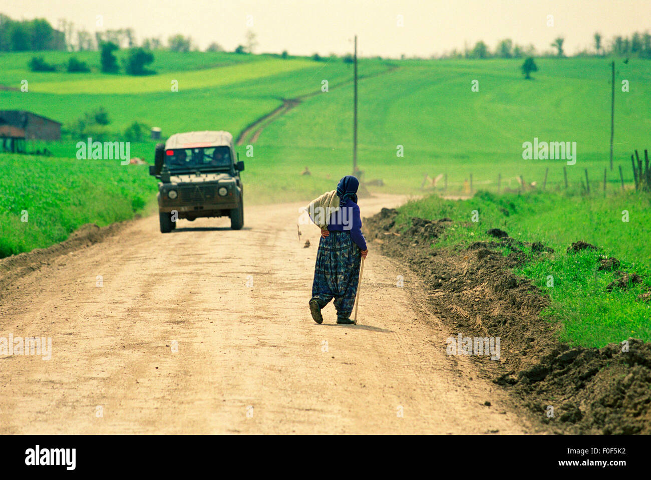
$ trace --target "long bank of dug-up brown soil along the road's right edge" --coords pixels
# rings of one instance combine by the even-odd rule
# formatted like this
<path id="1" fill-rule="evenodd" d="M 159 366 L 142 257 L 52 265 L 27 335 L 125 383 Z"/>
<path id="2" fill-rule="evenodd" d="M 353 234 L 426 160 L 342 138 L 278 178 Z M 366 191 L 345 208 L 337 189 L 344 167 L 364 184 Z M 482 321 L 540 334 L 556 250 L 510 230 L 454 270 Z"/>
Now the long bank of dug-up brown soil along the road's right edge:
<path id="1" fill-rule="evenodd" d="M 397 214 L 383 209 L 365 219 L 367 239 L 419 275 L 430 306 L 454 332 L 501 339 L 499 361 L 473 359 L 541 426 L 558 433 L 651 433 L 651 346 L 635 339 L 603 348 L 560 343 L 559 324 L 540 318 L 549 298 L 512 274 L 525 247 L 538 255 L 552 249 L 508 235 L 465 249 L 432 249 L 450 219 L 412 218 L 403 232 Z M 506 257 L 497 251 L 504 246 L 511 249 Z M 585 248 L 597 249 L 575 242 L 568 251 Z"/>

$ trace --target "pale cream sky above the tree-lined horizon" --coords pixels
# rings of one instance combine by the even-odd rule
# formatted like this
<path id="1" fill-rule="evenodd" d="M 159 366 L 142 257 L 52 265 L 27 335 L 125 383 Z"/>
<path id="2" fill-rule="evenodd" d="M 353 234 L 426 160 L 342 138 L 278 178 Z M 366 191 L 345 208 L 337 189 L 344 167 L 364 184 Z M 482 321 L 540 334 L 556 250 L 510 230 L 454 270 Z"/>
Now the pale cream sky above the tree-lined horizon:
<path id="1" fill-rule="evenodd" d="M 572 54 L 592 48 L 596 31 L 609 44 L 614 35 L 651 29 L 651 0 L 0 0 L 0 12 L 54 27 L 65 18 L 90 32 L 131 27 L 138 41 L 158 36 L 167 44 L 182 33 L 201 49 L 217 42 L 229 51 L 251 29 L 255 53 L 292 55 L 350 52 L 355 33 L 362 56 L 429 57 L 477 40 L 493 51 L 502 38 L 545 51 L 559 35 Z"/>

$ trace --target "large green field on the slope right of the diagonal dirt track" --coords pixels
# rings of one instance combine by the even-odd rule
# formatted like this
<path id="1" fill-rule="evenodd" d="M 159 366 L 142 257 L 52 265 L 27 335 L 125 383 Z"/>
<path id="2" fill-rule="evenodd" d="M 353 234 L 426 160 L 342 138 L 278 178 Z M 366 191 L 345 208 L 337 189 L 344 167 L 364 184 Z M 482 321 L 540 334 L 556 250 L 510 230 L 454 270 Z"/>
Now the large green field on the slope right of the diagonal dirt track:
<path id="1" fill-rule="evenodd" d="M 538 59 L 540 72 L 525 81 L 518 61 L 432 61 L 400 64 L 382 76 L 361 81 L 359 165 L 367 180 L 381 178 L 385 190 L 417 191 L 424 174 L 447 173 L 449 193 L 473 186 L 516 188 L 516 178 L 537 181 L 549 168 L 550 188 L 563 181 L 561 160 L 522 159 L 522 143 L 575 141 L 577 162 L 567 165 L 568 181 L 603 182 L 610 134 L 609 65 L 605 59 Z M 630 92 L 616 90 L 615 171 L 612 188 L 632 181 L 630 154 L 651 147 L 651 62 L 620 67 Z M 478 79 L 479 92 L 471 91 Z M 263 132 L 257 151 L 282 159 L 288 168 L 303 164 L 322 177 L 350 169 L 352 88 L 320 94 Z M 318 132 L 315 135 L 314 132 Z M 396 146 L 404 157 L 396 156 Z M 266 152 L 266 153 L 265 153 Z M 397 175 L 396 175 L 397 174 Z M 337 175 L 333 175 L 337 176 Z M 440 184 L 438 185 L 441 186 Z"/>

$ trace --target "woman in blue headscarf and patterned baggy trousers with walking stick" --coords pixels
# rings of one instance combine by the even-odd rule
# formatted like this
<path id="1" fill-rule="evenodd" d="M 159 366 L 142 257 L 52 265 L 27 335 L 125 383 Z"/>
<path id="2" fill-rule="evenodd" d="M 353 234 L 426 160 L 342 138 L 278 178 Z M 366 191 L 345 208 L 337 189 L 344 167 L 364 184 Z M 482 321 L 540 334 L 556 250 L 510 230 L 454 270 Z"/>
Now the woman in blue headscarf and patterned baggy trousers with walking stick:
<path id="1" fill-rule="evenodd" d="M 321 240 L 316 253 L 312 298 L 309 302 L 312 318 L 319 324 L 324 321 L 321 309 L 333 298 L 337 309 L 337 323 L 356 323 L 350 319 L 350 314 L 357 294 L 359 264 L 361 258 L 366 258 L 368 253 L 366 240 L 361 233 L 357 188 L 357 178 L 352 175 L 344 176 L 339 180 L 336 196 L 335 191 L 327 192 L 310 205 L 312 214 L 314 205 L 317 208 L 333 205 L 327 207 L 325 222 L 320 225 Z M 331 210 L 335 211 L 331 213 Z M 320 224 L 313 215 L 311 217 L 314 223 Z"/>

